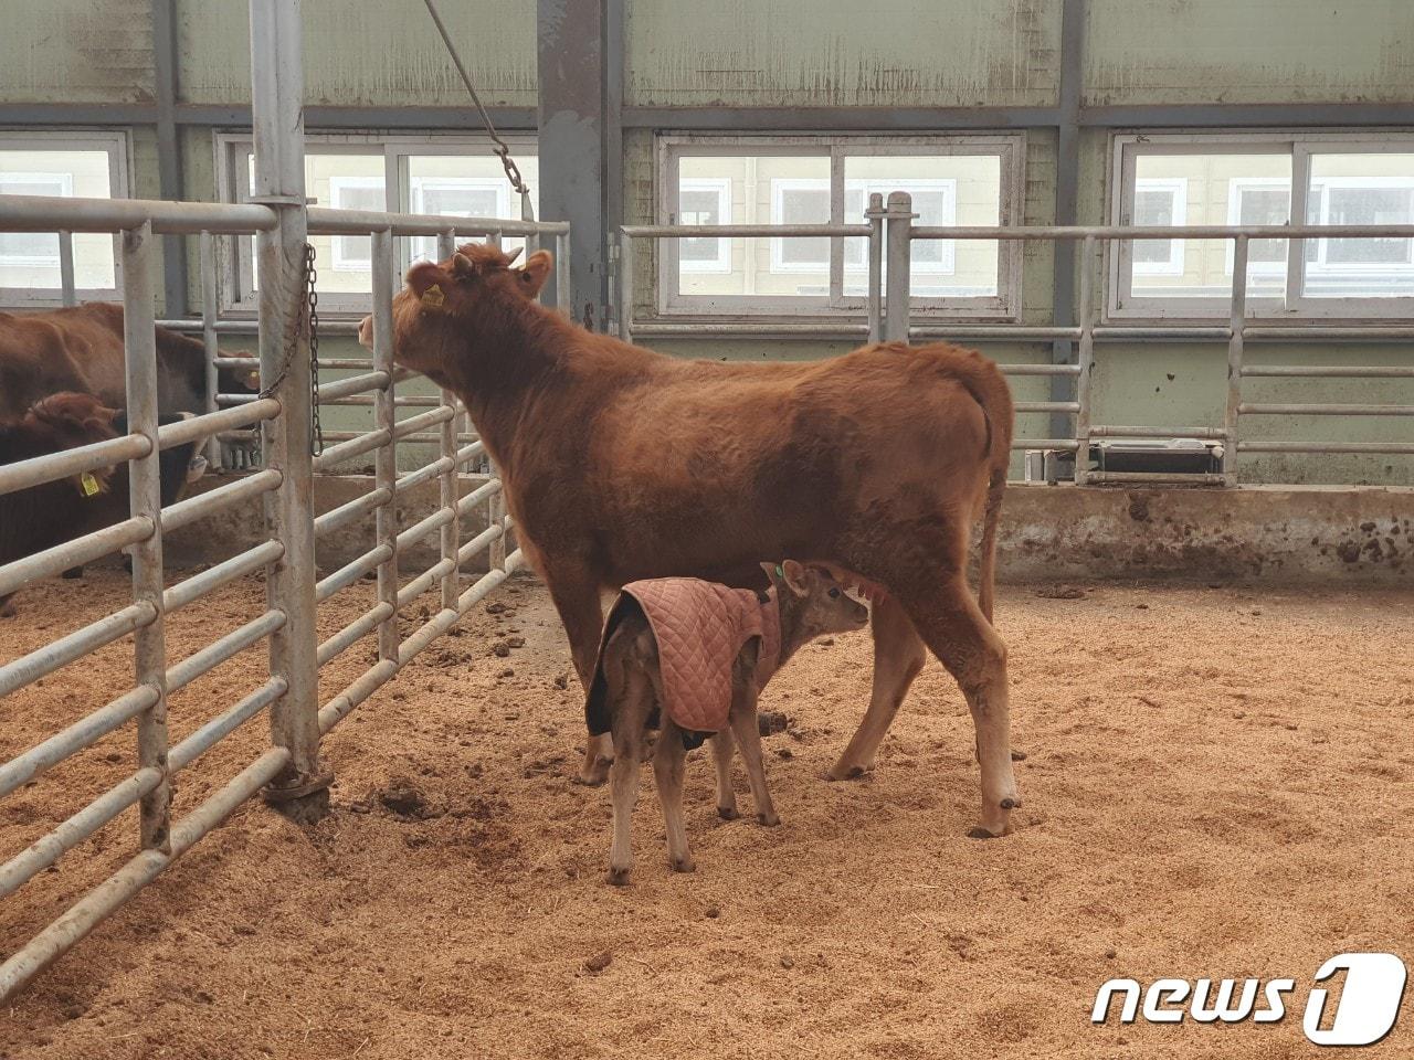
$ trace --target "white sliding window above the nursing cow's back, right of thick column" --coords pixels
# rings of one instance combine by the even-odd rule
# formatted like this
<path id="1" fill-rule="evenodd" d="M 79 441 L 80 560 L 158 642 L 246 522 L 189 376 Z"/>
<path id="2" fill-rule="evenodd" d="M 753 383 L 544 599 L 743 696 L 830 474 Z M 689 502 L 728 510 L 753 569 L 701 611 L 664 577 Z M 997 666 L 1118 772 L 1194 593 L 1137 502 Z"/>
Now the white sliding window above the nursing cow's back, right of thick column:
<path id="1" fill-rule="evenodd" d="M 1024 154 L 1019 134 L 660 136 L 659 219 L 863 225 L 870 195 L 906 191 L 918 225 L 1018 223 Z M 680 239 L 658 250 L 665 314 L 829 317 L 864 308 L 864 237 Z M 915 310 L 1015 318 L 1019 263 L 1019 243 L 916 240 Z"/>

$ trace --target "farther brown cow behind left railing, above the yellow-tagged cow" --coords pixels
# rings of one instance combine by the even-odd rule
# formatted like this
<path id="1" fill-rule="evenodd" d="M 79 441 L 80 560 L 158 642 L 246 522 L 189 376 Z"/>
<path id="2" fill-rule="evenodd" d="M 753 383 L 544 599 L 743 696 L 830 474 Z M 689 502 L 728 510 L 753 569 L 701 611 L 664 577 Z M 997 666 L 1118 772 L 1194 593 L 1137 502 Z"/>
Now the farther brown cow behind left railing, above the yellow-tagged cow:
<path id="1" fill-rule="evenodd" d="M 219 369 L 222 393 L 256 393 L 250 369 Z M 110 408 L 127 406 L 123 307 L 85 302 L 47 312 L 0 312 L 0 417 L 24 416 L 64 390 L 93 394 Z M 164 416 L 204 413 L 206 351 L 201 342 L 157 328 L 157 408 Z"/>

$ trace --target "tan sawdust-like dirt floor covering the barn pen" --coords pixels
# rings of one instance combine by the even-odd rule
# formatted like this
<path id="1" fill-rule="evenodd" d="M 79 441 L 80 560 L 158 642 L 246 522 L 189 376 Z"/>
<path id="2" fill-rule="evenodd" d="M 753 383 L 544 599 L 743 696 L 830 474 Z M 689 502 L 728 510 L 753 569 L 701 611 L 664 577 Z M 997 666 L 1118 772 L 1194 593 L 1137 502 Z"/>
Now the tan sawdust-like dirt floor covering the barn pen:
<path id="1" fill-rule="evenodd" d="M 327 608 L 325 636 L 366 592 Z M 23 594 L 0 659 L 124 594 L 112 571 Z M 173 656 L 262 599 L 235 587 L 173 616 Z M 966 838 L 971 724 L 943 670 L 925 670 L 874 773 L 827 783 L 870 649 L 807 647 L 762 702 L 792 718 L 766 742 L 783 825 L 720 821 L 694 752 L 697 872 L 670 873 L 645 770 L 625 889 L 602 882 L 607 791 L 568 783 L 580 693 L 547 598 L 519 581 L 327 741 L 324 821 L 238 810 L 0 1011 L 0 1057 L 1304 1057 L 1319 1054 L 1301 1011 L 1325 958 L 1414 964 L 1408 594 L 1004 589 L 1025 807 L 991 842 Z M 329 667 L 325 698 L 368 654 Z M 174 697 L 174 739 L 263 659 Z M 130 667 L 113 646 L 0 701 L 0 756 L 106 702 Z M 257 721 L 180 775 L 177 813 L 263 741 Z M 132 742 L 0 803 L 3 855 L 126 776 Z M 738 787 L 749 808 L 740 765 Z M 134 834 L 124 814 L 4 900 L 0 951 Z M 1297 979 L 1284 1022 L 1089 1022 L 1111 977 L 1249 975 Z M 1411 996 L 1360 1056 L 1414 1056 Z"/>

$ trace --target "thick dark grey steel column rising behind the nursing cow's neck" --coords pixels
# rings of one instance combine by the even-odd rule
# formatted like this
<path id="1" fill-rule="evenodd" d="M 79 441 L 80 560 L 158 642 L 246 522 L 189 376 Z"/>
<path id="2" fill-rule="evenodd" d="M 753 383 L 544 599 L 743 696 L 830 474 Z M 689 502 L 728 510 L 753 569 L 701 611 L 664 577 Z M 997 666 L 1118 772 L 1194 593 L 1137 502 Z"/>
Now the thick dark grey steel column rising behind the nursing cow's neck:
<path id="1" fill-rule="evenodd" d="M 608 174 L 618 151 L 621 92 L 609 92 L 611 7 L 619 0 L 537 0 L 540 82 L 540 216 L 568 220 L 574 230 L 570 298 L 574 319 L 602 331 L 608 307 Z M 622 48 L 615 45 L 615 55 Z M 612 95 L 612 106 L 611 106 Z M 614 126 L 611 129 L 611 124 Z"/>

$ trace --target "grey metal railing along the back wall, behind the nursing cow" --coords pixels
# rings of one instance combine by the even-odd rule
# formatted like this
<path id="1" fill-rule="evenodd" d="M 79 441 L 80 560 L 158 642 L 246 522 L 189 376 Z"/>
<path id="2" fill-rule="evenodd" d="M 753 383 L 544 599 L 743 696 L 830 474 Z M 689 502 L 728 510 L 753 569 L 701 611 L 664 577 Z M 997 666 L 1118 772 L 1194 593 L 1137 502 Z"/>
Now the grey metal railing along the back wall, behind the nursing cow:
<path id="1" fill-rule="evenodd" d="M 619 229 L 619 260 L 615 274 L 615 305 L 619 336 L 631 339 L 639 326 L 633 322 L 633 256 L 635 239 L 683 239 L 713 236 L 754 236 L 781 239 L 790 236 L 867 236 L 870 239 L 870 295 L 868 318 L 864 324 L 841 322 L 779 322 L 747 319 L 710 324 L 663 324 L 655 321 L 643 328 L 653 335 L 744 335 L 744 336 L 837 336 L 858 335 L 870 342 L 911 341 L 916 338 L 993 339 L 1015 342 L 1070 343 L 1072 359 L 1065 363 L 1003 363 L 998 367 L 1008 377 L 1046 376 L 1072 379 L 1072 396 L 1041 401 L 1017 401 L 1018 413 L 1048 413 L 1069 417 L 1072 428 L 1065 437 L 1015 438 L 1015 449 L 1055 449 L 1076 454 L 1075 481 L 1077 485 L 1103 482 L 1150 482 L 1181 485 L 1237 485 L 1239 454 L 1414 454 L 1411 441 L 1302 441 L 1302 440 L 1244 440 L 1243 417 L 1251 416 L 1394 416 L 1414 417 L 1414 406 L 1379 403 L 1268 403 L 1247 400 L 1243 383 L 1249 379 L 1411 379 L 1414 366 L 1308 366 L 1308 365 L 1251 365 L 1246 359 L 1250 342 L 1410 342 L 1414 341 L 1414 319 L 1408 326 L 1389 324 L 1331 325 L 1331 324 L 1253 324 L 1247 312 L 1247 247 L 1253 239 L 1379 239 L 1414 237 L 1414 225 L 1282 225 L 1282 226 L 1162 226 L 1133 228 L 1116 225 L 1070 226 L 923 226 L 915 225 L 912 196 L 892 192 L 887 204 L 874 195 L 867 212 L 868 226 L 800 226 L 800 225 L 628 225 Z M 1017 324 L 936 324 L 915 318 L 909 294 L 912 281 L 912 245 L 923 239 L 957 240 L 1066 240 L 1077 245 L 1077 307 L 1076 325 L 1017 325 Z M 1165 324 L 1165 325 L 1104 325 L 1097 297 L 1102 291 L 1099 269 L 1100 249 L 1109 243 L 1150 239 L 1217 239 L 1233 245 L 1233 284 L 1230 312 L 1225 325 Z M 880 269 L 875 253 L 885 246 L 885 290 L 881 293 Z M 882 304 L 882 321 L 880 307 Z M 1117 342 L 1226 342 L 1227 397 L 1222 425 L 1195 424 L 1104 424 L 1094 423 L 1092 383 L 1096 343 Z M 1092 471 L 1092 444 L 1107 438 L 1144 440 L 1202 440 L 1222 442 L 1222 472 L 1219 473 L 1157 473 Z"/>

